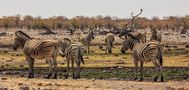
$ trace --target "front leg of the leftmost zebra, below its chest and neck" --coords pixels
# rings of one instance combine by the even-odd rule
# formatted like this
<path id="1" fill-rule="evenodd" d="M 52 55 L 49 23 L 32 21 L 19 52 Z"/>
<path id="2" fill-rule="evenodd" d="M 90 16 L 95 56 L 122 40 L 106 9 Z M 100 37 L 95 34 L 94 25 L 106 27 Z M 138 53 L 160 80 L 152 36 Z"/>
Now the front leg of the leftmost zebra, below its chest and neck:
<path id="1" fill-rule="evenodd" d="M 34 77 L 34 59 L 26 56 L 26 61 L 28 61 L 28 66 L 29 66 L 29 75 L 28 78 L 33 78 Z"/>

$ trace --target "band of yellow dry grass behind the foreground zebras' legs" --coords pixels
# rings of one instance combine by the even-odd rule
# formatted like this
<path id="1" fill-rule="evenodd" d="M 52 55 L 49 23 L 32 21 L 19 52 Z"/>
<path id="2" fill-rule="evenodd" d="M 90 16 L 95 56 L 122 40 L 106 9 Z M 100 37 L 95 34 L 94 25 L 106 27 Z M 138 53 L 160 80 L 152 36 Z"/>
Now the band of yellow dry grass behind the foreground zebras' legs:
<path id="1" fill-rule="evenodd" d="M 126 54 L 120 53 L 120 47 L 116 46 L 113 48 L 113 54 L 105 54 L 105 51 L 100 50 L 97 46 L 92 46 L 90 54 L 84 54 L 85 65 L 83 67 L 111 67 L 111 66 L 126 66 L 133 67 L 133 61 L 130 55 L 130 51 Z M 168 67 L 188 67 L 189 59 L 188 55 L 164 55 L 163 66 Z M 65 58 L 58 56 L 57 58 L 59 66 L 65 67 Z M 45 60 L 36 60 L 36 66 L 48 66 L 45 64 Z M 20 65 L 26 65 L 25 57 L 23 53 L 11 53 L 1 52 L 0 53 L 0 65 L 1 66 L 13 66 L 17 67 Z M 151 62 L 145 63 L 144 66 L 153 66 Z"/>

